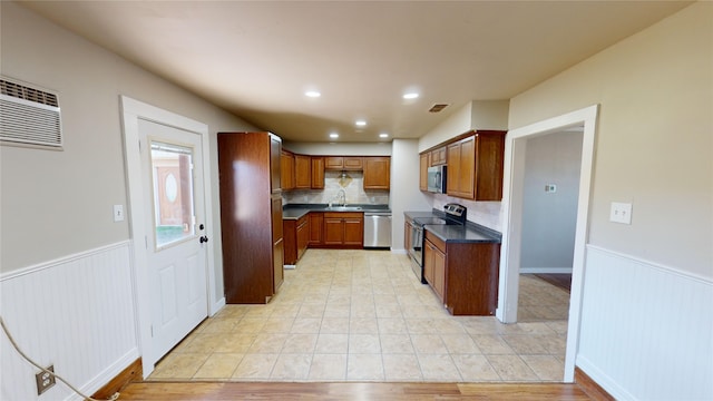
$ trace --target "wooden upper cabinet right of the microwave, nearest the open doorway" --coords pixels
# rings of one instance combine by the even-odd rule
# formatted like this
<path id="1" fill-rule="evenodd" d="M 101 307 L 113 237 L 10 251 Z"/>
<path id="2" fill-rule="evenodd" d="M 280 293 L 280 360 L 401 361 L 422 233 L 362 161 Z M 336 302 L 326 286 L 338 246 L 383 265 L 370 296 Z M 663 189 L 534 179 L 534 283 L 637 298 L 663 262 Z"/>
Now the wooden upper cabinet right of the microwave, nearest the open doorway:
<path id="1" fill-rule="evenodd" d="M 448 145 L 448 195 L 475 200 L 502 198 L 505 134 L 477 131 Z"/>

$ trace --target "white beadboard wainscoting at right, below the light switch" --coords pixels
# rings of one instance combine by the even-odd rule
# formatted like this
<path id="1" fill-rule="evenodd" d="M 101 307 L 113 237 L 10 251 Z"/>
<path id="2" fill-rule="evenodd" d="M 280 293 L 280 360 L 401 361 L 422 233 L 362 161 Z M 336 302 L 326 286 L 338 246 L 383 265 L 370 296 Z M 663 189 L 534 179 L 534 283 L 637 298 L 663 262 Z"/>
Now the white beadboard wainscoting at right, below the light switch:
<path id="1" fill-rule="evenodd" d="M 576 364 L 618 400 L 713 400 L 713 283 L 587 246 Z"/>

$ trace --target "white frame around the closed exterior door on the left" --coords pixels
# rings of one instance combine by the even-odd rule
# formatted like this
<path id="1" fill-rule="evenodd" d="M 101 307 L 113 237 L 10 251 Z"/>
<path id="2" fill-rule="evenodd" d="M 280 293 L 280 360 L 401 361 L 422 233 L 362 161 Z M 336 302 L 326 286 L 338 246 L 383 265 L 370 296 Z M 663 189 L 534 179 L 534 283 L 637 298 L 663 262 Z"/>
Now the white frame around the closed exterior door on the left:
<path id="1" fill-rule="evenodd" d="M 145 194 L 141 177 L 141 160 L 139 145 L 139 119 L 170 126 L 174 128 L 195 133 L 201 136 L 201 147 L 203 156 L 203 193 L 206 229 L 205 235 L 208 238 L 215 238 L 213 229 L 213 212 L 211 197 L 211 151 L 208 141 L 208 126 L 206 124 L 193 120 L 191 118 L 179 116 L 177 114 L 160 109 L 158 107 L 120 96 L 121 118 L 124 124 L 124 157 L 128 187 L 128 217 L 129 217 L 129 237 L 131 238 L 131 271 L 134 281 L 134 309 L 136 313 L 137 324 L 136 334 L 141 354 L 141 364 L 144 370 L 144 379 L 153 371 L 154 364 L 162 355 L 155 355 L 152 343 L 152 309 L 150 309 L 150 281 L 147 267 L 146 246 L 141 246 L 147 241 L 146 216 L 144 213 L 144 203 L 150 199 L 150 194 Z M 145 149 L 147 144 L 143 144 Z M 148 150 L 146 150 L 148 151 Z M 141 241 L 144 239 L 144 241 Z M 215 299 L 215 275 L 209 274 L 214 271 L 214 242 L 206 243 L 206 263 L 205 274 L 207 275 L 206 294 L 208 296 L 208 310 L 206 315 L 213 315 L 217 312 L 217 300 Z"/>

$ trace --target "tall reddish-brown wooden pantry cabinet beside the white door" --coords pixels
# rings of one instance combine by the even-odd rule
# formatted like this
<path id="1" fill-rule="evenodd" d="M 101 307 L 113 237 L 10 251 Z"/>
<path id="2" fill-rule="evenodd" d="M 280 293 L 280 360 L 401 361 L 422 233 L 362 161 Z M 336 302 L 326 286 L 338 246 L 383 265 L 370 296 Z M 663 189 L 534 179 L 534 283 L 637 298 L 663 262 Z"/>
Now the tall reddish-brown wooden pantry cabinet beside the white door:
<path id="1" fill-rule="evenodd" d="M 267 303 L 284 280 L 282 140 L 218 133 L 223 276 L 227 303 Z"/>

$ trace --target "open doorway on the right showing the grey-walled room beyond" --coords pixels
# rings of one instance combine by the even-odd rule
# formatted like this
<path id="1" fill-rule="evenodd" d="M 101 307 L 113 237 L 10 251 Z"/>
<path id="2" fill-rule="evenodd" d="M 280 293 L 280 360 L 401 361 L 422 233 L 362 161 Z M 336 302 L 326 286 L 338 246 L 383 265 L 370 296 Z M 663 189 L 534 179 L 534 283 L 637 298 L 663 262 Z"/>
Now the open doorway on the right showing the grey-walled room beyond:
<path id="1" fill-rule="evenodd" d="M 583 131 L 578 125 L 527 139 L 519 322 L 567 321 Z"/>

